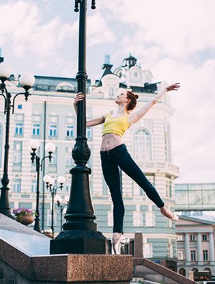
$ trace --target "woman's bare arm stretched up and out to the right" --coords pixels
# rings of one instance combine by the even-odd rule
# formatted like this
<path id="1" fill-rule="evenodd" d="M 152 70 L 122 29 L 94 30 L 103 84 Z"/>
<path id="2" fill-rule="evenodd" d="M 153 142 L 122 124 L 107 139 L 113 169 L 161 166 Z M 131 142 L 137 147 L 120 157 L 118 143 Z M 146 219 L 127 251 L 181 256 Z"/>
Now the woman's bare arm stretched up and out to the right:
<path id="1" fill-rule="evenodd" d="M 131 126 L 133 123 L 137 122 L 143 116 L 145 116 L 145 114 L 149 111 L 149 109 L 151 109 L 153 105 L 155 105 L 160 100 L 160 98 L 162 98 L 162 96 L 166 94 L 166 92 L 169 92 L 171 90 L 177 91 L 179 88 L 180 88 L 180 83 L 173 83 L 172 85 L 164 88 L 162 91 L 156 94 L 156 96 L 154 96 L 154 98 L 151 101 L 149 101 L 149 103 L 141 107 L 141 109 L 138 112 L 128 114 L 128 124 Z"/>

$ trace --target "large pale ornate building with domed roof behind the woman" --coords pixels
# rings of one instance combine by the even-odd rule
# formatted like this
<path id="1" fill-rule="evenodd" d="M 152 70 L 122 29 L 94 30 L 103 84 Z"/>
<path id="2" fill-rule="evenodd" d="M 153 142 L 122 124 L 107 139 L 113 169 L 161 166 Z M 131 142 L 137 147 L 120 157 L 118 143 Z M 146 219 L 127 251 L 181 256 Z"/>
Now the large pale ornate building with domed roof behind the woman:
<path id="1" fill-rule="evenodd" d="M 104 73 L 100 80 L 87 81 L 87 119 L 117 109 L 117 92 L 132 90 L 139 95 L 137 110 L 143 107 L 156 92 L 167 86 L 164 81 L 152 83 L 152 73 L 141 70 L 137 60 L 129 55 L 124 64 L 114 72 L 110 64 L 104 64 Z M 8 91 L 20 92 L 18 75 L 12 75 L 6 81 Z M 54 142 L 56 146 L 51 162 L 45 160 L 40 175 L 40 218 L 41 229 L 51 226 L 51 194 L 42 181 L 44 175 L 57 177 L 63 175 L 66 183 L 57 194 L 63 198 L 70 194 L 70 169 L 74 166 L 72 148 L 76 137 L 76 115 L 73 100 L 76 94 L 76 80 L 70 78 L 35 76 L 35 85 L 31 89 L 27 103 L 21 96 L 16 99 L 15 114 L 10 122 L 10 158 L 9 188 L 10 205 L 35 209 L 37 188 L 35 164 L 31 164 L 28 152 L 29 141 L 40 142 L 40 159 L 47 155 L 45 144 Z M 3 98 L 0 97 L 1 105 Z M 173 164 L 171 142 L 171 116 L 174 110 L 170 105 L 168 93 L 152 107 L 139 122 L 132 125 L 124 134 L 128 151 L 139 164 L 147 179 L 158 190 L 164 203 L 174 210 L 174 179 L 179 177 L 179 168 Z M 99 231 L 111 238 L 113 229 L 113 205 L 109 190 L 102 177 L 100 166 L 100 143 L 102 125 L 87 129 L 87 138 L 91 157 L 88 166 L 91 196 L 96 211 Z M 3 174 L 3 145 L 5 141 L 5 115 L 0 109 L 0 175 Z M 154 260 L 176 260 L 175 224 L 160 214 L 160 210 L 149 201 L 145 192 L 129 177 L 121 173 L 121 185 L 126 214 L 124 235 L 134 237 L 135 231 L 143 232 L 144 257 Z M 55 183 L 57 186 L 57 183 Z M 55 232 L 60 229 L 60 211 L 55 204 Z"/>

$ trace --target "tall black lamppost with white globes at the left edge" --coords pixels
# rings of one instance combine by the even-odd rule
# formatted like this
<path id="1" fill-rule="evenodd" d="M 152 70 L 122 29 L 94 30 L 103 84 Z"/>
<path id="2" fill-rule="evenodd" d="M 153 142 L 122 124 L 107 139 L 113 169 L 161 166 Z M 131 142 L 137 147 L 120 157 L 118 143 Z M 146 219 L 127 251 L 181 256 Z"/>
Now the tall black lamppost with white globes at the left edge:
<path id="1" fill-rule="evenodd" d="M 1 57 L 2 58 L 2 57 Z M 12 107 L 12 114 L 14 114 L 14 103 L 16 96 L 20 94 L 25 95 L 25 101 L 27 101 L 29 95 L 29 89 L 33 86 L 35 82 L 35 78 L 30 73 L 23 73 L 23 75 L 20 76 L 20 84 L 25 89 L 25 92 L 20 92 L 16 94 L 12 100 L 12 95 L 10 92 L 8 92 L 5 81 L 10 77 L 11 74 L 11 68 L 8 64 L 1 63 L 0 64 L 0 89 L 1 89 L 1 96 L 5 99 L 5 105 L 4 105 L 4 114 L 6 114 L 6 131 L 5 131 L 5 156 L 4 156 L 4 165 L 3 165 L 3 177 L 1 179 L 2 188 L 1 188 L 1 198 L 0 198 L 0 213 L 9 216 L 12 218 L 12 215 L 10 214 L 10 203 L 9 203 L 9 190 L 8 183 L 8 158 L 9 158 L 9 133 L 10 133 L 10 109 Z"/>

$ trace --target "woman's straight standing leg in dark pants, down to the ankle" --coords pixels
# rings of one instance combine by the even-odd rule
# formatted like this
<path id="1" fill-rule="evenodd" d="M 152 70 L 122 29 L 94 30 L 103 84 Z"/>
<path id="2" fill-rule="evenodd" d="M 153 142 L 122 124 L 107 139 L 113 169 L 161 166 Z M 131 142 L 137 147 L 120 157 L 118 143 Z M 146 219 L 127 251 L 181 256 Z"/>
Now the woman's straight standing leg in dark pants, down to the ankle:
<path id="1" fill-rule="evenodd" d="M 101 154 L 101 160 L 104 180 L 109 187 L 113 201 L 113 233 L 122 233 L 125 209 L 120 190 L 119 168 L 113 163 L 109 154 Z"/>

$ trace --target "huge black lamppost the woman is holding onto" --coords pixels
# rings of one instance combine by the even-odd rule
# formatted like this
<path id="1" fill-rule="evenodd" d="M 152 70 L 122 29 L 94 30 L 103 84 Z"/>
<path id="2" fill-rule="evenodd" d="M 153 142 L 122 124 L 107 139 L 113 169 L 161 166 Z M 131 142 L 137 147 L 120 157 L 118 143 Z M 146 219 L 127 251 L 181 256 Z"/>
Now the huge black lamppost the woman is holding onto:
<path id="1" fill-rule="evenodd" d="M 91 9 L 96 9 L 91 0 Z M 79 11 L 80 10 L 80 11 Z M 78 73 L 76 80 L 78 92 L 85 95 L 77 105 L 77 137 L 72 157 L 76 166 L 70 170 L 72 175 L 70 201 L 66 211 L 63 231 L 51 240 L 51 254 L 57 253 L 111 253 L 111 241 L 98 231 L 96 216 L 91 201 L 89 175 L 91 169 L 86 164 L 90 157 L 86 138 L 86 15 L 87 0 L 75 0 L 75 12 L 79 12 Z"/>

